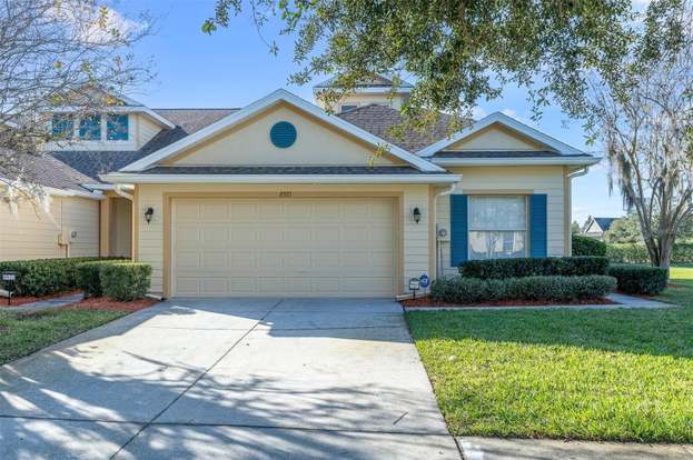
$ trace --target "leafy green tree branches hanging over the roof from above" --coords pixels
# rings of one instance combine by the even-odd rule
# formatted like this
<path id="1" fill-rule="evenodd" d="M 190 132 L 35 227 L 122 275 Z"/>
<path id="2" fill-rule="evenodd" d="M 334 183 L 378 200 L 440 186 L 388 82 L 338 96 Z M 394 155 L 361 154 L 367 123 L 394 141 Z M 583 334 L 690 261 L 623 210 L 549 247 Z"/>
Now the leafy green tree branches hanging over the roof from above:
<path id="1" fill-rule="evenodd" d="M 577 111 L 585 69 L 613 69 L 634 18 L 630 0 L 217 0 L 202 31 L 228 27 L 244 8 L 260 33 L 278 19 L 279 33 L 296 37 L 301 70 L 291 82 L 335 76 L 336 89 L 321 94 L 334 101 L 373 72 L 412 78 L 405 123 L 425 127 L 445 111 L 451 130 L 509 82 L 527 87 L 537 108 L 554 94 Z"/>

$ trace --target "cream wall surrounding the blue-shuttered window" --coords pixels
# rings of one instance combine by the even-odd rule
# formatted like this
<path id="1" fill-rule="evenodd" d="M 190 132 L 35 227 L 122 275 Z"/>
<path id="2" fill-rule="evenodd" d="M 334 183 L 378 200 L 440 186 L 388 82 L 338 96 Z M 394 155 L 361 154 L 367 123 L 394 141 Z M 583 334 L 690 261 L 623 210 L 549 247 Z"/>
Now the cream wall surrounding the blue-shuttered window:
<path id="1" fill-rule="evenodd" d="M 451 168 L 462 174 L 462 182 L 455 193 L 472 194 L 547 194 L 547 250 L 548 256 L 567 256 L 570 243 L 566 239 L 566 221 L 570 222 L 570 207 L 566 207 L 563 167 L 467 167 Z M 568 191 L 570 193 L 570 191 Z M 568 213 L 566 218 L 566 212 Z M 447 230 L 449 227 L 449 197 L 436 200 L 436 224 Z M 442 249 L 443 274 L 451 276 L 457 268 L 451 267 L 449 239 L 438 241 Z"/>

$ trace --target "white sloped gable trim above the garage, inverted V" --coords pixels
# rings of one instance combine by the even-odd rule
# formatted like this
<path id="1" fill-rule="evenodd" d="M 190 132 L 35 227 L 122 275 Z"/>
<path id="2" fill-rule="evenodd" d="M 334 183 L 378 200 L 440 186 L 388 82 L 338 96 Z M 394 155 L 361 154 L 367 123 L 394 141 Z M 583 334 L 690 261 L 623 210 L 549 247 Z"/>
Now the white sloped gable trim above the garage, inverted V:
<path id="1" fill-rule="evenodd" d="M 399 158 L 403 161 L 406 161 L 409 164 L 413 164 L 414 167 L 416 167 L 418 170 L 424 171 L 424 172 L 443 172 L 445 171 L 443 168 L 439 168 L 428 161 L 426 161 L 423 158 L 419 158 L 417 156 L 415 156 L 414 153 L 409 153 L 408 151 L 387 142 L 384 139 L 378 138 L 377 136 L 372 134 L 370 132 L 363 130 L 347 121 L 344 121 L 343 119 L 340 119 L 339 117 L 336 116 L 331 116 L 326 113 L 323 109 L 320 109 L 317 106 L 314 106 L 313 103 L 299 98 L 298 96 L 295 96 L 284 89 L 279 89 L 276 90 L 274 92 L 271 92 L 270 94 L 264 97 L 263 99 L 259 99 L 255 102 L 253 102 L 249 106 L 246 106 L 245 108 L 240 109 L 237 112 L 230 113 L 226 117 L 224 117 L 222 119 L 220 119 L 219 121 L 209 124 L 206 128 L 200 129 L 199 131 L 195 132 L 194 134 L 187 136 L 185 138 L 182 138 L 181 140 L 171 143 L 170 146 L 167 146 L 160 150 L 157 150 L 156 152 L 138 160 L 135 161 L 130 164 L 127 164 L 126 167 L 121 168 L 120 171 L 122 172 L 137 172 L 137 171 L 141 171 L 143 169 L 147 169 L 151 166 L 154 166 L 156 162 L 161 161 L 166 158 L 171 157 L 175 153 L 178 153 L 179 151 L 184 150 L 184 149 L 188 149 L 190 147 L 197 146 L 201 142 L 204 142 L 205 140 L 211 138 L 212 136 L 217 134 L 219 131 L 226 130 L 235 124 L 238 124 L 240 122 L 242 122 L 244 120 L 247 120 L 248 118 L 253 117 L 255 113 L 265 110 L 276 103 L 279 102 L 287 102 L 291 106 L 295 106 L 306 112 L 308 112 L 309 114 L 318 118 L 321 121 L 325 121 L 336 128 L 341 129 L 343 131 L 346 131 L 370 144 L 374 146 L 379 146 L 379 147 L 384 147 L 389 153 L 392 153 L 393 156 Z"/>

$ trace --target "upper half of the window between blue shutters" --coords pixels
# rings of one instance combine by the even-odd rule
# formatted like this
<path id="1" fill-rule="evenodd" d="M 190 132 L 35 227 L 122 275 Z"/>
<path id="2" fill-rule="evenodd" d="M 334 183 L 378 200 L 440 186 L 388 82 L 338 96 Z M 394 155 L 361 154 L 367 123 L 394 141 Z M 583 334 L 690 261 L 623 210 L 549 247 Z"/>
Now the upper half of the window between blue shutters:
<path id="1" fill-rule="evenodd" d="M 469 197 L 469 230 L 526 230 L 525 197 Z"/>

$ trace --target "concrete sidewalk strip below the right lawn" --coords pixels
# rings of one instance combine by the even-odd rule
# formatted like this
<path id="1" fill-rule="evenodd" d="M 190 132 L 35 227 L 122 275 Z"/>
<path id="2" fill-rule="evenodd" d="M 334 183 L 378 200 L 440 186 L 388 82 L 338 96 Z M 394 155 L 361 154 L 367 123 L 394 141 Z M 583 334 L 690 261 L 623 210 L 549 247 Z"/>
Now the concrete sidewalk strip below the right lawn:
<path id="1" fill-rule="evenodd" d="M 464 460 L 693 460 L 691 444 L 456 438 Z"/>

